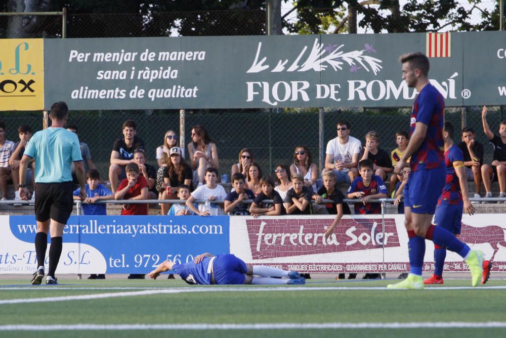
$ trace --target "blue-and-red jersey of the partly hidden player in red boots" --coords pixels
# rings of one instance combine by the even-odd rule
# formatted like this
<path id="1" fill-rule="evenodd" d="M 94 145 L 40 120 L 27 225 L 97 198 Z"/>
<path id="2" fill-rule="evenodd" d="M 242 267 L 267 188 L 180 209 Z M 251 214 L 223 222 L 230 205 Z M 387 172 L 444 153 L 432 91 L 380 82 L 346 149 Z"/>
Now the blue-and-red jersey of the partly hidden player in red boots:
<path id="1" fill-rule="evenodd" d="M 453 144 L 444 153 L 444 158 L 446 162 L 446 181 L 438 204 L 463 204 L 462 191 L 455 169 L 464 166 L 464 154 Z"/>

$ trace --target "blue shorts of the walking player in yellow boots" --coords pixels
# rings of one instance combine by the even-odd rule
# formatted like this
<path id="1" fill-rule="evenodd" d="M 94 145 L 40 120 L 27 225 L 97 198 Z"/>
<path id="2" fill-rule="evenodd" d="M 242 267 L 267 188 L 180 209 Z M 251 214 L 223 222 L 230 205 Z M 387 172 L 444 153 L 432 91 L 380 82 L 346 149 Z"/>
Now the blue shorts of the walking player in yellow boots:
<path id="1" fill-rule="evenodd" d="M 446 168 L 411 171 L 404 186 L 404 207 L 416 214 L 434 215 L 446 180 Z"/>

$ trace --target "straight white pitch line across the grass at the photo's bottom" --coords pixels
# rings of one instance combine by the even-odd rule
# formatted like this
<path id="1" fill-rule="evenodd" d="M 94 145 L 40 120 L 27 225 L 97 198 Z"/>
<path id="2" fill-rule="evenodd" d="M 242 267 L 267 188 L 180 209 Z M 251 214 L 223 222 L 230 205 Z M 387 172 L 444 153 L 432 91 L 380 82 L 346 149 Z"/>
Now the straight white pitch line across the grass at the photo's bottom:
<path id="1" fill-rule="evenodd" d="M 408 323 L 256 323 L 256 324 L 55 324 L 0 325 L 0 331 L 61 330 L 278 330 L 278 329 L 405 329 L 405 328 L 497 328 L 506 322 L 408 322 Z"/>

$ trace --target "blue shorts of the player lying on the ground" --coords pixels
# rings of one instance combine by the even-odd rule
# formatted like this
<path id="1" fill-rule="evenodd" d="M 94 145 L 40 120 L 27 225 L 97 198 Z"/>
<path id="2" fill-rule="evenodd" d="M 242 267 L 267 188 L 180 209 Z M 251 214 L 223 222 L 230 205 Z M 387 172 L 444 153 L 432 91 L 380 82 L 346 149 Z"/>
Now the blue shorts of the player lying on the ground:
<path id="1" fill-rule="evenodd" d="M 242 284 L 246 272 L 246 263 L 232 254 L 217 255 L 213 261 L 216 284 Z"/>

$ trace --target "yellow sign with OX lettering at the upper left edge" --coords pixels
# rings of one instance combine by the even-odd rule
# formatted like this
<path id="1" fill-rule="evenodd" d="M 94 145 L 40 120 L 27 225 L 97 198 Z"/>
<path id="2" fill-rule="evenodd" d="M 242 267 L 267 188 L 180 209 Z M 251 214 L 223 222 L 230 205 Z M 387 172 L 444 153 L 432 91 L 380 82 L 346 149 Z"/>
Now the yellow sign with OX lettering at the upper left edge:
<path id="1" fill-rule="evenodd" d="M 44 109 L 44 40 L 0 39 L 0 111 Z"/>

